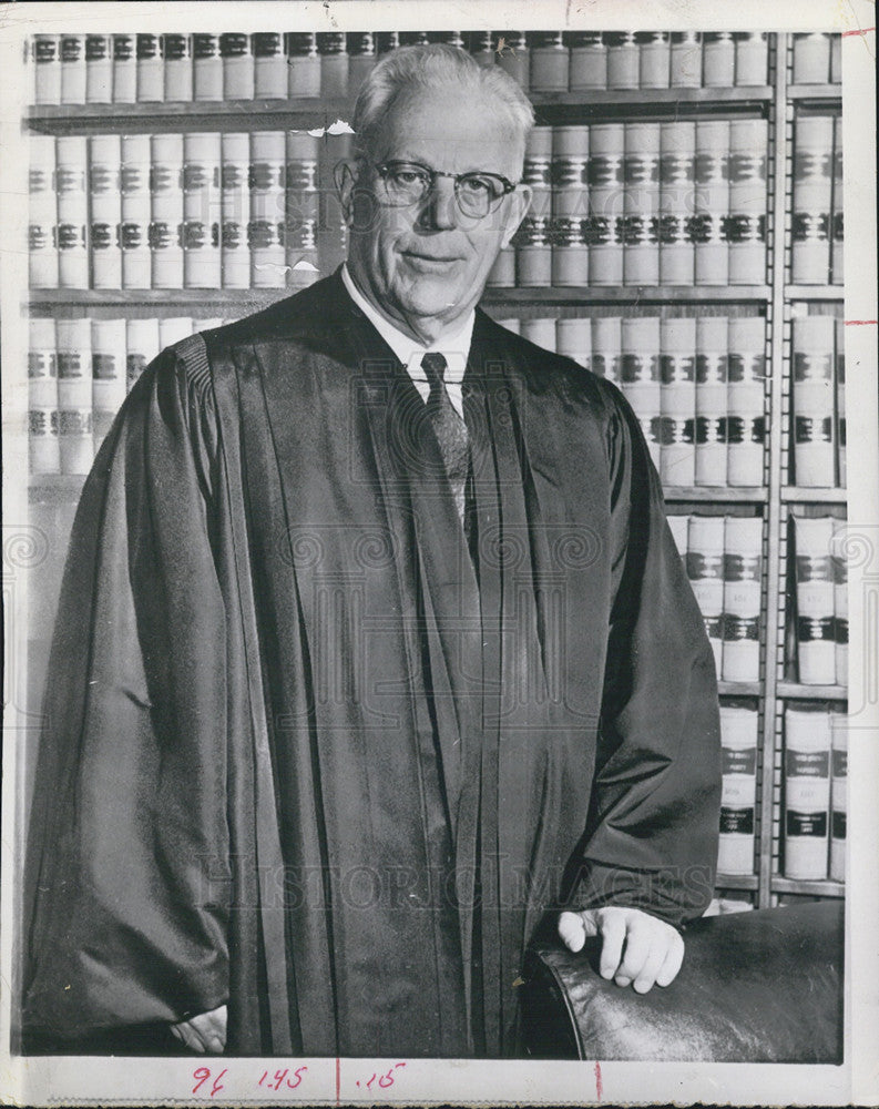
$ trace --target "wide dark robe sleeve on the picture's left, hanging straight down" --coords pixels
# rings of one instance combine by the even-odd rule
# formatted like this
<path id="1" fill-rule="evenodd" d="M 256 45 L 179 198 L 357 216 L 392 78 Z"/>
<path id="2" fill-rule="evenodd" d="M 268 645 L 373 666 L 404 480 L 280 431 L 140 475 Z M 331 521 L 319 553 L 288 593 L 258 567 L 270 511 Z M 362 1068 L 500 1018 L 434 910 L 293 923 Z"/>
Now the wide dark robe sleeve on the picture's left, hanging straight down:
<path id="1" fill-rule="evenodd" d="M 187 339 L 147 367 L 85 482 L 31 810 L 25 1041 L 227 998 L 216 440 L 204 344 Z"/>

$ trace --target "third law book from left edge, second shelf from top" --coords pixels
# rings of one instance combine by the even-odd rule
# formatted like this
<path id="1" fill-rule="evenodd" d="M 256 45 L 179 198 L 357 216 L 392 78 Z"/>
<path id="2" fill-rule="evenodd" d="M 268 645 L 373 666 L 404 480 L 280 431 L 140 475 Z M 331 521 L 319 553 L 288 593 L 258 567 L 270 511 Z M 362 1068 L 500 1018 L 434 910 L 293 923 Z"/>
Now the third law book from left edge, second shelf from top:
<path id="1" fill-rule="evenodd" d="M 92 288 L 122 288 L 122 140 L 89 136 Z"/>

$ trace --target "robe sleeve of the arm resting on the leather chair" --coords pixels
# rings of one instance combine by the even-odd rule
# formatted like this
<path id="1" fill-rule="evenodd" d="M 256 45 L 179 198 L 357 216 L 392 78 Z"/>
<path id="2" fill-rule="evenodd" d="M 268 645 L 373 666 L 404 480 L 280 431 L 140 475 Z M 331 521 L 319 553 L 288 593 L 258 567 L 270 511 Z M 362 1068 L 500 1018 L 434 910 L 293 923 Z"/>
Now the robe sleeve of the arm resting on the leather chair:
<path id="1" fill-rule="evenodd" d="M 575 891 L 679 926 L 714 888 L 720 739 L 714 655 L 641 427 L 613 390 L 613 604 L 596 767 Z"/>

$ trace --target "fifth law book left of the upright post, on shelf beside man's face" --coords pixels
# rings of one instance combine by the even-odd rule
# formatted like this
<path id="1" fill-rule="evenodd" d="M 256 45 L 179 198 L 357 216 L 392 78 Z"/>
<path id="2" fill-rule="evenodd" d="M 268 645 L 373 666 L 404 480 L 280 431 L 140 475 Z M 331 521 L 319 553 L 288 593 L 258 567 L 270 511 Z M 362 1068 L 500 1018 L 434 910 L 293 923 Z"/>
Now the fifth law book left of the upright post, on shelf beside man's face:
<path id="1" fill-rule="evenodd" d="M 589 216 L 585 226 L 589 283 L 597 286 L 622 285 L 625 125 L 593 124 L 589 131 Z"/>

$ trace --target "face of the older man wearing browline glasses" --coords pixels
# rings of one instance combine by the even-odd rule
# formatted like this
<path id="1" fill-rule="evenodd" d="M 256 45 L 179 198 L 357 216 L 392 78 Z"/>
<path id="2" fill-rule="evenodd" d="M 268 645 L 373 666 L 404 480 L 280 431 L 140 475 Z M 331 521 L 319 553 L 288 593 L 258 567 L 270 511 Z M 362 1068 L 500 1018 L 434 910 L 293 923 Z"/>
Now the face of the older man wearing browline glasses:
<path id="1" fill-rule="evenodd" d="M 474 103 L 466 90 L 439 88 L 400 98 L 376 135 L 371 161 L 418 162 L 451 174 L 481 170 L 517 182 L 522 155 L 522 139 L 493 98 Z M 357 163 L 354 172 L 356 184 L 348 174 L 343 199 L 350 205 L 354 197 L 348 264 L 355 279 L 388 316 L 430 338 L 478 302 L 498 252 L 524 215 L 528 190 L 504 196 L 477 220 L 459 208 L 450 177 L 436 179 L 420 204 L 393 207 L 378 203 L 384 195 L 375 165 Z M 361 190 L 366 204 L 357 199 Z"/>

